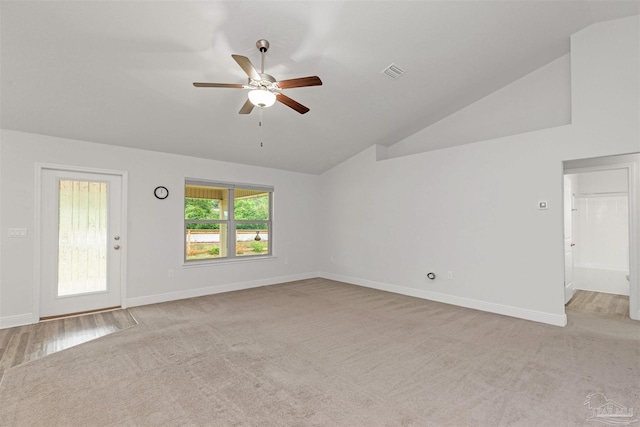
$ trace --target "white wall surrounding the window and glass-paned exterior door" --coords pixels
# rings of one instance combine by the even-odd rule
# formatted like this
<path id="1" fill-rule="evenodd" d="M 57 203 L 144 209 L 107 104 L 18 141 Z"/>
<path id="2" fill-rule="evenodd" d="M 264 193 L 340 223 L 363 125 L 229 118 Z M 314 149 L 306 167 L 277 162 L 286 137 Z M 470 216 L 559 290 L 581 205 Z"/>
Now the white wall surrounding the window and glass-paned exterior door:
<path id="1" fill-rule="evenodd" d="M 34 168 L 36 162 L 128 172 L 127 298 L 129 305 L 317 276 L 319 177 L 186 156 L 3 130 L 0 134 L 2 271 L 0 327 L 37 320 L 34 290 Z M 277 258 L 183 267 L 184 179 L 273 185 Z M 170 196 L 153 196 L 158 185 Z M 26 239 L 7 238 L 27 228 Z M 304 238 L 301 238 L 301 237 Z M 168 269 L 175 270 L 169 278 Z"/>

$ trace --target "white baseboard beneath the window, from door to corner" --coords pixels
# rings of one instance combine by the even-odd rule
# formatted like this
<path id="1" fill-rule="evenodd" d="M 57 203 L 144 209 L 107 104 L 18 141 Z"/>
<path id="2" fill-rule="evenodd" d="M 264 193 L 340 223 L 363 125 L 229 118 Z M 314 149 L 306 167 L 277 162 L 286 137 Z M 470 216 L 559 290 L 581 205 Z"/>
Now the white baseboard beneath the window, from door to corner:
<path id="1" fill-rule="evenodd" d="M 187 289 L 183 291 L 167 292 L 164 294 L 147 295 L 143 297 L 133 297 L 127 298 L 127 307 L 157 304 L 186 298 L 220 294 L 223 292 L 240 291 L 242 289 L 259 288 L 260 286 L 277 285 L 278 283 L 295 282 L 296 280 L 313 279 L 316 277 L 318 277 L 318 272 L 312 272 L 291 276 L 270 277 L 268 279 L 253 280 L 250 282 L 225 283 L 223 285 L 209 286 L 206 288 Z"/>

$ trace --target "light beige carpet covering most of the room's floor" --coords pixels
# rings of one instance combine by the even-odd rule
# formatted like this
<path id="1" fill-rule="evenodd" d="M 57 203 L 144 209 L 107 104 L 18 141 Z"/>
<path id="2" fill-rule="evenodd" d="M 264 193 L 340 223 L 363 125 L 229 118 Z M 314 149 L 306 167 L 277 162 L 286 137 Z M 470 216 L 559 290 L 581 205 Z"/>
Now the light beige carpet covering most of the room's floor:
<path id="1" fill-rule="evenodd" d="M 559 328 L 313 279 L 131 309 L 9 369 L 0 425 L 583 426 L 640 410 L 637 322 Z"/>

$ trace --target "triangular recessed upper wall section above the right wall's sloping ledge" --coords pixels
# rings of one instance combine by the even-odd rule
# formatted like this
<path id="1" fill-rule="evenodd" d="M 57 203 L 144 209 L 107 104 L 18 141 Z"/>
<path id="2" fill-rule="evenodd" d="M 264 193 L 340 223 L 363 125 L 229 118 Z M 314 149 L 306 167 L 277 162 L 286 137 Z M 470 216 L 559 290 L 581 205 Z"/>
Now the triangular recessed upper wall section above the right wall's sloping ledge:
<path id="1" fill-rule="evenodd" d="M 570 56 L 564 55 L 388 148 L 400 157 L 571 123 Z"/>

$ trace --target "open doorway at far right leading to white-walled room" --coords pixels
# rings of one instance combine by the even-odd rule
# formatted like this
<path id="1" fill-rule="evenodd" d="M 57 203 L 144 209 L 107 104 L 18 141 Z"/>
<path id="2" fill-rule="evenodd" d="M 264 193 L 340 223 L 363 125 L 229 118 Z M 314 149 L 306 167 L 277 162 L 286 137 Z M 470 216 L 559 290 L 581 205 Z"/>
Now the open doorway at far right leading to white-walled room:
<path id="1" fill-rule="evenodd" d="M 573 309 L 592 305 L 606 313 L 626 307 L 629 317 L 640 320 L 639 164 L 640 154 L 564 164 L 565 304 L 573 298 Z"/>

